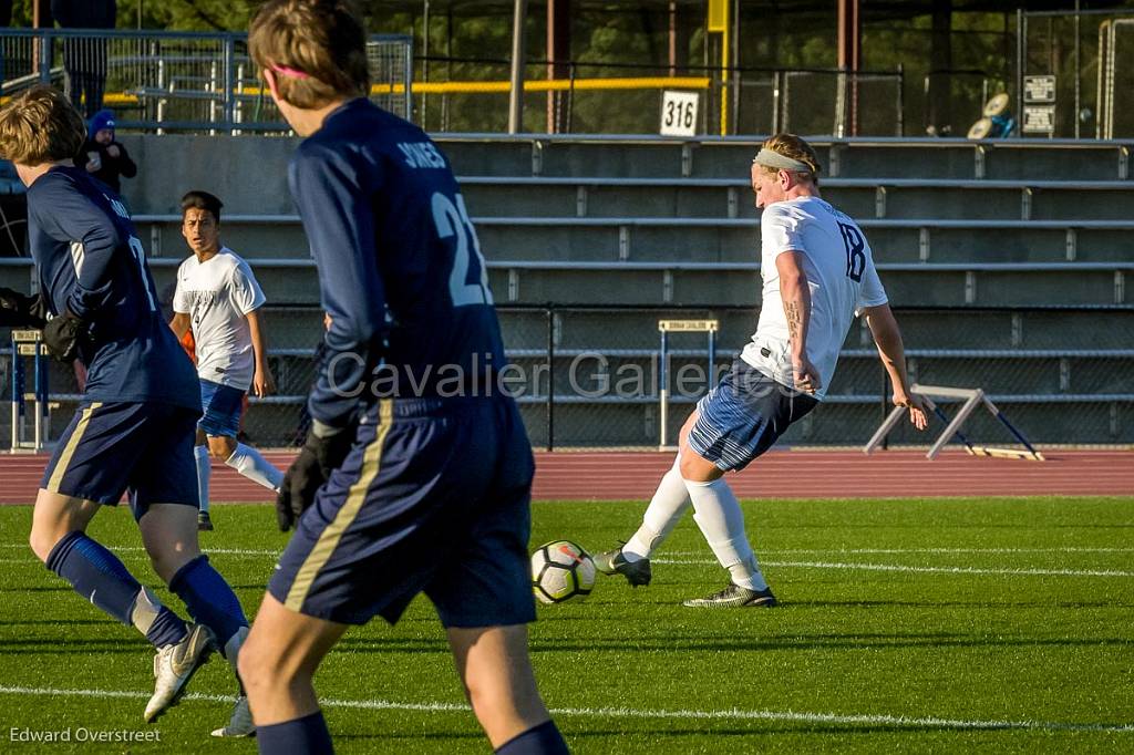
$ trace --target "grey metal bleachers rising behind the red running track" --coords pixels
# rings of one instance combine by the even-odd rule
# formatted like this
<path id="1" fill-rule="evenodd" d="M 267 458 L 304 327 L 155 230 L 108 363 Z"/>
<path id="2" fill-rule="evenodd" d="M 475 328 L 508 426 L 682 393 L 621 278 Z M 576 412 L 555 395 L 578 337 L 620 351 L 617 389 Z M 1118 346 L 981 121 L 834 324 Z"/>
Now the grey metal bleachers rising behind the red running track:
<path id="1" fill-rule="evenodd" d="M 225 198 L 223 240 L 253 263 L 270 300 L 310 305 L 269 313 L 282 396 L 253 412 L 282 427 L 307 388 L 310 371 L 301 367 L 320 332 L 315 271 L 298 218 L 287 209 L 287 144 L 215 137 L 210 150 L 219 143 L 220 155 L 194 162 L 181 150 L 200 147 L 201 137 L 136 138 L 149 142 L 137 150 L 129 144 L 132 152 L 158 163 L 143 170 L 162 171 L 166 161 L 161 178 L 127 194 L 159 286 L 172 281 L 184 255 L 177 197 L 204 187 Z M 722 360 L 751 333 L 760 304 L 759 213 L 747 178 L 756 142 L 438 141 L 462 177 L 498 304 L 738 307 L 719 313 Z M 1126 290 L 1134 274 L 1132 143 L 813 144 L 824 197 L 856 218 L 870 239 L 917 379 L 985 388 L 1012 406 L 1014 421 L 1036 442 L 1134 442 L 1134 312 Z M 251 188 L 237 190 L 247 176 L 255 177 Z M 0 264 L 0 285 L 22 283 L 27 274 L 20 263 Z M 658 311 L 556 317 L 556 444 L 653 442 L 655 398 L 587 398 L 560 378 L 587 350 L 607 354 L 611 368 L 648 365 Z M 502 311 L 518 364 L 547 358 L 545 319 L 538 308 Z M 880 371 L 869 333 L 853 329 L 829 401 L 793 429 L 789 442 L 857 443 L 877 424 Z M 684 358 L 697 357 L 688 351 Z M 543 442 L 544 399 L 535 393 L 525 399 L 525 416 L 533 440 Z M 675 414 L 676 422 L 684 410 Z"/>

